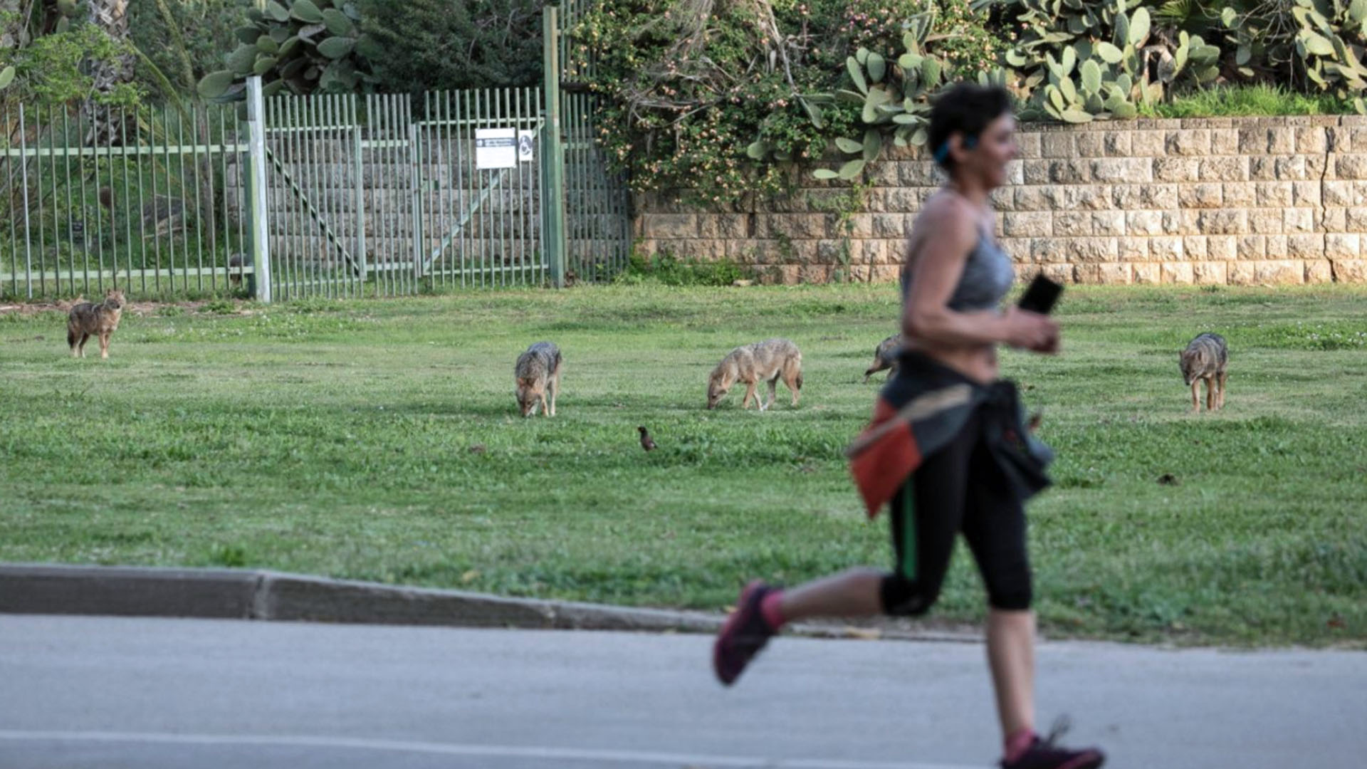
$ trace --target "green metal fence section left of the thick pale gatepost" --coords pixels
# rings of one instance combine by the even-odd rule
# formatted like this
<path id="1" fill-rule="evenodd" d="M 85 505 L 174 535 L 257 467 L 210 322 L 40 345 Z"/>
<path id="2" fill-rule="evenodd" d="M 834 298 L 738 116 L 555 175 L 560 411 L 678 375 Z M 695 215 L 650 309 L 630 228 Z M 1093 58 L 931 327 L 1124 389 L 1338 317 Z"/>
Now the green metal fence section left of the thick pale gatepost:
<path id="1" fill-rule="evenodd" d="M 231 107 L 0 107 L 0 297 L 120 287 L 231 291 L 250 279 Z"/>

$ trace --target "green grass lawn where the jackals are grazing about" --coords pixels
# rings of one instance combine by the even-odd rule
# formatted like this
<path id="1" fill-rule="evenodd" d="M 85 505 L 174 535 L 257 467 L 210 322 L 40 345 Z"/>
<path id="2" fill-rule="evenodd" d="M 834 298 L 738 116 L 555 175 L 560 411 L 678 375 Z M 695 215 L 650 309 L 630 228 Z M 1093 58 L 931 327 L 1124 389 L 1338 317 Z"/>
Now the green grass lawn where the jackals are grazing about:
<path id="1" fill-rule="evenodd" d="M 1047 634 L 1367 642 L 1364 302 L 1070 287 L 1065 353 L 1005 353 L 1059 453 L 1029 508 Z M 841 449 L 869 413 L 893 286 L 223 309 L 126 315 L 108 361 L 67 357 L 60 313 L 0 316 L 0 560 L 708 609 L 750 576 L 891 561 Z M 1177 353 L 1206 330 L 1229 339 L 1229 400 L 1193 416 Z M 705 410 L 712 365 L 772 335 L 804 352 L 801 405 L 781 386 L 767 413 L 740 391 Z M 559 416 L 522 420 L 513 361 L 539 339 L 565 352 Z M 961 546 L 936 616 L 982 612 Z"/>

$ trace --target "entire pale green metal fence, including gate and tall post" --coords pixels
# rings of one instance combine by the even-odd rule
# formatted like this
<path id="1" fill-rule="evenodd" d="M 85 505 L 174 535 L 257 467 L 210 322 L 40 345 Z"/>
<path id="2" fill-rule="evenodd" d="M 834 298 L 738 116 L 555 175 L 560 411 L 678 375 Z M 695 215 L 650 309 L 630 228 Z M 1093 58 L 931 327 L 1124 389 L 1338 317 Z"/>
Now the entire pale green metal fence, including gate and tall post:
<path id="1" fill-rule="evenodd" d="M 0 297 L 402 296 L 560 286 L 627 264 L 596 101 L 559 85 L 584 0 L 545 10 L 544 89 L 0 105 Z M 100 137 L 100 138 L 93 138 Z"/>

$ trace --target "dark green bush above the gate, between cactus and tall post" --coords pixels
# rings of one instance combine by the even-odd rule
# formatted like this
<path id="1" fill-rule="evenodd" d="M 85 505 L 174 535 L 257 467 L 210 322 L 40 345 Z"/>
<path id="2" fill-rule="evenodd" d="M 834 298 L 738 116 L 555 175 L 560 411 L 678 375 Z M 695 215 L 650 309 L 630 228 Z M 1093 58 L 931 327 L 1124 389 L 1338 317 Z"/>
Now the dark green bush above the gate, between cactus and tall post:
<path id="1" fill-rule="evenodd" d="M 541 81 L 536 0 L 362 0 L 362 27 L 384 49 L 373 62 L 391 93 L 513 88 Z"/>

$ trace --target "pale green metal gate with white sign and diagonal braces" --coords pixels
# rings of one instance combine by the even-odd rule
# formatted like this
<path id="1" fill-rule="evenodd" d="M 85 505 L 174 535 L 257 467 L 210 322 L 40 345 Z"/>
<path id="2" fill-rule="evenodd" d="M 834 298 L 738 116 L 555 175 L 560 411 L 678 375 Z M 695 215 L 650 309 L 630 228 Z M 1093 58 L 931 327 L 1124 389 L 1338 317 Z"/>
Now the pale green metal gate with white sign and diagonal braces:
<path id="1" fill-rule="evenodd" d="M 262 100 L 275 298 L 402 296 L 547 276 L 540 92 Z M 481 163 L 511 133 L 514 164 Z"/>

